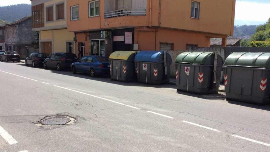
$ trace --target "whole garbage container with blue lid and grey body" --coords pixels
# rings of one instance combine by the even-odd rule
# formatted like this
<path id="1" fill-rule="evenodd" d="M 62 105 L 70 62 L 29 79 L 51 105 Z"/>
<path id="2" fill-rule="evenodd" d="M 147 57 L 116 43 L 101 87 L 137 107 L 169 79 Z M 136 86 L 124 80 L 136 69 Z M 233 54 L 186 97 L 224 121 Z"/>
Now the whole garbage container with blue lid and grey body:
<path id="1" fill-rule="evenodd" d="M 135 56 L 134 61 L 138 82 L 162 84 L 170 81 L 172 58 L 169 53 L 141 51 Z"/>

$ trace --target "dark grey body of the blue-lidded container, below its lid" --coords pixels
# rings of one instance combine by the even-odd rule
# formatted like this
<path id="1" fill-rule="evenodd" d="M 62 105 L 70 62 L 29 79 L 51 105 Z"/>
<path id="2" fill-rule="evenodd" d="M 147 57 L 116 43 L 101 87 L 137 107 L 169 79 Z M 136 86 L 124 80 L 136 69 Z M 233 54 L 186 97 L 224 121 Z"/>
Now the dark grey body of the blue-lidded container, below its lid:
<path id="1" fill-rule="evenodd" d="M 146 68 L 144 68 L 146 64 Z M 164 62 L 139 62 L 135 61 L 137 80 L 147 84 L 164 84 L 170 81 L 171 60 L 167 60 L 167 75 Z"/>

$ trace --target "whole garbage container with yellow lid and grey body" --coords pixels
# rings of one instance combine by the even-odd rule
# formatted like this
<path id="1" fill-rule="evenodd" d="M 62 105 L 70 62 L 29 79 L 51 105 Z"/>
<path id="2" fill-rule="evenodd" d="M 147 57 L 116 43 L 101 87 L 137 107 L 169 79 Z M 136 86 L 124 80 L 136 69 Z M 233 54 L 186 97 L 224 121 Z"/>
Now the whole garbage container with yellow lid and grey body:
<path id="1" fill-rule="evenodd" d="M 137 51 L 115 51 L 110 57 L 112 80 L 130 82 L 136 80 L 134 57 Z"/>

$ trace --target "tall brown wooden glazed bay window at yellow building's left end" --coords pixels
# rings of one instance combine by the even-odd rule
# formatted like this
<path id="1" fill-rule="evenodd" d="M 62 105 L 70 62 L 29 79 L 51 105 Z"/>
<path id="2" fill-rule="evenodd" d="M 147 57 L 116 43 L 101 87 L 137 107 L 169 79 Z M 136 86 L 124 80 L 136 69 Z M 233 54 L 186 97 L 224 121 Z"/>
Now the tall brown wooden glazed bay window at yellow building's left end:
<path id="1" fill-rule="evenodd" d="M 32 28 L 44 27 L 44 4 L 32 6 Z"/>

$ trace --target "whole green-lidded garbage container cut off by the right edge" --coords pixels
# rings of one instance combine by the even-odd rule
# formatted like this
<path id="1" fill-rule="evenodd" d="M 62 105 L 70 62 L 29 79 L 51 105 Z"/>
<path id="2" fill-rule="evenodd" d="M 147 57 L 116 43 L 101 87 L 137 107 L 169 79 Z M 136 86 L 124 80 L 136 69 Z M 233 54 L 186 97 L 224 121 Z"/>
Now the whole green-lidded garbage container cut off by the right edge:
<path id="1" fill-rule="evenodd" d="M 270 53 L 232 53 L 223 71 L 227 99 L 270 103 Z"/>

